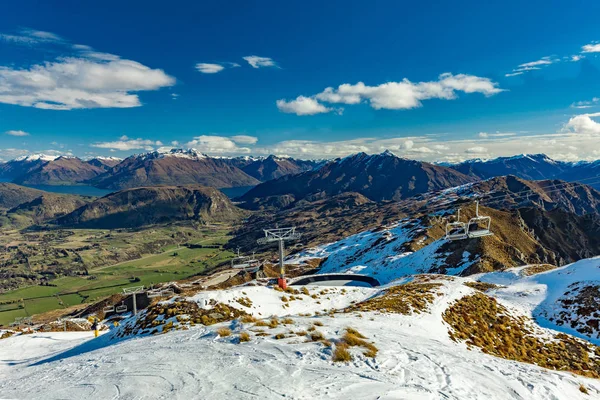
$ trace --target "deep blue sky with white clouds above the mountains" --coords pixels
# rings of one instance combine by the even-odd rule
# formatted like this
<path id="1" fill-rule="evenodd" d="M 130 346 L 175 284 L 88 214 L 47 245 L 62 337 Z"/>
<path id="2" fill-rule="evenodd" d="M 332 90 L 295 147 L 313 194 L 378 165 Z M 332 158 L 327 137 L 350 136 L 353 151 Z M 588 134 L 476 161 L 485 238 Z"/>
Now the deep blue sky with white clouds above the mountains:
<path id="1" fill-rule="evenodd" d="M 201 3 L 4 4 L 0 159 L 600 158 L 596 2 Z"/>

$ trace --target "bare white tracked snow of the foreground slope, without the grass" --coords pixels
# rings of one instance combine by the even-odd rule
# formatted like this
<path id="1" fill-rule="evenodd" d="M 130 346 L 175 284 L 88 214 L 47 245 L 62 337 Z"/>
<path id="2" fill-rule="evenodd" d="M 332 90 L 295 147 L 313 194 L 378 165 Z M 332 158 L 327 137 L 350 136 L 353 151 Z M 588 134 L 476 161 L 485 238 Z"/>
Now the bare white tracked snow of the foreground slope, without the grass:
<path id="1" fill-rule="evenodd" d="M 600 381 L 567 372 L 508 361 L 452 342 L 441 315 L 473 289 L 465 279 L 441 281 L 430 312 L 399 314 L 316 311 L 344 308 L 377 295 L 377 289 L 332 288 L 283 307 L 284 293 L 268 287 L 202 292 L 191 298 L 215 299 L 256 317 L 291 316 L 275 329 L 239 321 L 162 335 L 115 339 L 109 332 L 38 333 L 0 342 L 0 398 L 19 399 L 591 399 Z M 310 294 L 322 286 L 307 286 Z M 289 296 L 289 294 L 285 294 Z M 251 307 L 236 300 L 247 298 Z M 299 316 L 310 313 L 313 316 Z M 335 343 L 353 327 L 379 349 L 367 358 L 352 348 L 353 361 L 334 363 L 331 348 L 305 337 L 277 333 L 316 329 Z M 233 335 L 219 337 L 229 327 Z M 122 328 L 122 327 L 121 327 Z M 268 336 L 256 336 L 262 329 Z M 252 334 L 239 343 L 239 332 Z M 579 390 L 583 384 L 590 394 Z"/>

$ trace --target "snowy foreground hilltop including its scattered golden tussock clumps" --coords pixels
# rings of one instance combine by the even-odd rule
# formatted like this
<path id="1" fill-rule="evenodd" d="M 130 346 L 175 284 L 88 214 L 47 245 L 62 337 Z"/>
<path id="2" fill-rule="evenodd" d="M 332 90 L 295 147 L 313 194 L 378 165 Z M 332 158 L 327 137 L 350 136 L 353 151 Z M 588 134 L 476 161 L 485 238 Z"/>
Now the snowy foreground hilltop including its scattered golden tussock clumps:
<path id="1" fill-rule="evenodd" d="M 0 360 L 11 360 L 0 362 L 0 396 L 600 396 L 596 379 L 505 360 L 473 346 L 469 350 L 458 339 L 461 328 L 453 315 L 471 299 L 491 299 L 470 287 L 472 279 L 417 276 L 411 280 L 381 289 L 307 286 L 284 293 L 241 286 L 202 291 L 159 303 L 98 339 L 92 339 L 91 332 L 13 336 L 0 346 Z M 519 309 L 500 312 L 509 322 L 532 324 Z M 212 318 L 224 321 L 203 324 L 210 324 Z M 565 340 L 541 327 L 529 337 L 542 346 L 542 352 L 553 349 L 544 340 Z M 594 360 L 596 356 L 590 355 L 589 363 Z"/>

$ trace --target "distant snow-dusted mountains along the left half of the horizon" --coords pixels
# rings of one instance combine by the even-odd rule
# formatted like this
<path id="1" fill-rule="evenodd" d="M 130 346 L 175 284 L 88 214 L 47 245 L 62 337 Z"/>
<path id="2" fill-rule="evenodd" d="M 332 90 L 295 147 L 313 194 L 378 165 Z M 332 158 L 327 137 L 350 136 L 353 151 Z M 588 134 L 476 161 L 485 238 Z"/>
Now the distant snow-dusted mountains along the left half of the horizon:
<path id="1" fill-rule="evenodd" d="M 0 179 L 23 185 L 86 184 L 120 190 L 142 186 L 201 184 L 216 188 L 254 186 L 313 169 L 318 161 L 286 157 L 209 157 L 193 149 L 137 154 L 121 160 L 43 154 L 0 163 Z"/>

